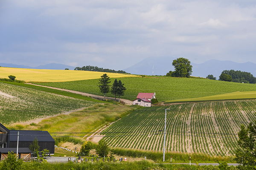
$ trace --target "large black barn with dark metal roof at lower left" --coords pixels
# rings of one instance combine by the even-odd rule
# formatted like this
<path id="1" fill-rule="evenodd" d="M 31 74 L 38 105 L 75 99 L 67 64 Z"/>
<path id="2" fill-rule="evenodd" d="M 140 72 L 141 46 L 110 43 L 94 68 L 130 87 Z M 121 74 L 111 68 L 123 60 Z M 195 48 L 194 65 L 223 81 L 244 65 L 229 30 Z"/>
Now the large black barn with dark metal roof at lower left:
<path id="1" fill-rule="evenodd" d="M 42 130 L 9 130 L 0 124 L 0 147 L 15 148 L 17 147 L 17 135 L 19 132 L 19 148 L 29 148 L 34 139 L 38 139 L 40 151 L 48 149 L 50 154 L 54 154 L 55 140 L 48 131 Z"/>

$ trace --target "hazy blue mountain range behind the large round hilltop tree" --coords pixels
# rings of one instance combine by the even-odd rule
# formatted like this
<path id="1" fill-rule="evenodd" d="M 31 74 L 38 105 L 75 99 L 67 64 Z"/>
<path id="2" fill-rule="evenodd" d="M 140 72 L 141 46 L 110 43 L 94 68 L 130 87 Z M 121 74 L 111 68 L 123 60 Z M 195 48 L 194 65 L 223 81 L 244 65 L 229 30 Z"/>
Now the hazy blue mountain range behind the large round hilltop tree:
<path id="1" fill-rule="evenodd" d="M 166 75 L 169 71 L 174 71 L 172 61 L 174 57 L 148 57 L 137 64 L 124 69 L 124 71 L 131 74 L 145 74 L 145 75 Z M 219 61 L 216 59 L 209 60 L 201 64 L 191 63 L 192 76 L 207 77 L 212 74 L 214 77 L 221 75 L 224 70 L 240 70 L 250 72 L 256 77 L 256 64 L 253 62 L 237 63 L 233 61 Z"/>

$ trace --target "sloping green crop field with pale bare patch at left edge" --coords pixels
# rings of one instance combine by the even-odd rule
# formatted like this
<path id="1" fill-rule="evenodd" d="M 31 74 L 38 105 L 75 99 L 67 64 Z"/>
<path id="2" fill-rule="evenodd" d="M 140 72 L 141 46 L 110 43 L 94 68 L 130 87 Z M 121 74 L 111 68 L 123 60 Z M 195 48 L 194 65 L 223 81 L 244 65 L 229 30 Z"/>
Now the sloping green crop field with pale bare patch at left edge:
<path id="1" fill-rule="evenodd" d="M 0 123 L 24 122 L 96 104 L 0 82 Z"/>

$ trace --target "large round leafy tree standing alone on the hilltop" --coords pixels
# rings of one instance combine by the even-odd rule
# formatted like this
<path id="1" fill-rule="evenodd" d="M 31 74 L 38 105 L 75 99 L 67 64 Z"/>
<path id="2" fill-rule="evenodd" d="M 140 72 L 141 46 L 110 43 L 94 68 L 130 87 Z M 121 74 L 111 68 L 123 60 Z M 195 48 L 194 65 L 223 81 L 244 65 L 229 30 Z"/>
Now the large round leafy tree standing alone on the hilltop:
<path id="1" fill-rule="evenodd" d="M 190 64 L 189 59 L 182 57 L 177 58 L 173 60 L 172 65 L 175 68 L 172 75 L 175 77 L 189 77 L 192 73 L 192 65 Z"/>

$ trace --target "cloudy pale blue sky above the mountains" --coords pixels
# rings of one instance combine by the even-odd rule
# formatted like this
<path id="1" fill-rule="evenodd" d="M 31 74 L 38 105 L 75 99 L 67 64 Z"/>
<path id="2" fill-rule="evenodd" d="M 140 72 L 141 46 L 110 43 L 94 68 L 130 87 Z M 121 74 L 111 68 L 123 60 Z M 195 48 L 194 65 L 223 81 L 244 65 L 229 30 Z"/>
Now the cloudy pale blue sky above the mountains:
<path id="1" fill-rule="evenodd" d="M 256 0 L 0 0 L 0 63 L 256 63 Z"/>

